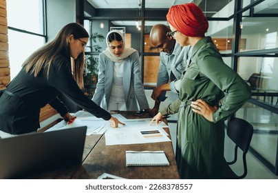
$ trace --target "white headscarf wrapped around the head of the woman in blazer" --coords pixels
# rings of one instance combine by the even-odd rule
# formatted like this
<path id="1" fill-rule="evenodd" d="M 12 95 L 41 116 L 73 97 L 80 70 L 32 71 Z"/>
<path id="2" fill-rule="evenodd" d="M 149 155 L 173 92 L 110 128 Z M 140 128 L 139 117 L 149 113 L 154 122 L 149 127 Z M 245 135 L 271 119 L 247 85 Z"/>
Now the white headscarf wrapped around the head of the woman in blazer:
<path id="1" fill-rule="evenodd" d="M 111 50 L 109 48 L 108 36 L 109 36 L 109 34 L 111 34 L 113 32 L 120 34 L 120 37 L 122 37 L 122 46 L 124 47 L 124 50 L 123 50 L 122 54 L 120 55 L 120 57 L 116 57 L 115 54 L 113 54 L 113 52 L 111 52 Z M 129 57 L 131 54 L 133 54 L 133 52 L 137 52 L 137 50 L 135 50 L 133 48 L 125 48 L 125 38 L 124 38 L 122 32 L 120 32 L 119 30 L 111 30 L 110 32 L 108 32 L 108 34 L 106 36 L 106 45 L 107 45 L 107 48 L 103 52 L 109 59 L 111 59 L 111 61 L 114 61 L 114 62 L 120 62 L 123 59 Z"/>

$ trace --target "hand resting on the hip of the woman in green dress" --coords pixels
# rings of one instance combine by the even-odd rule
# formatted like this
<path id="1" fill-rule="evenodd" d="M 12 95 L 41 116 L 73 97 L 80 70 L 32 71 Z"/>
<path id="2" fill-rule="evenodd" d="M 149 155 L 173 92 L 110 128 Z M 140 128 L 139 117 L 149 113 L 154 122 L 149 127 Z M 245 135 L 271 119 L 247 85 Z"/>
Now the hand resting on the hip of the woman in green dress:
<path id="1" fill-rule="evenodd" d="M 213 122 L 213 112 L 218 110 L 218 105 L 210 106 L 206 101 L 197 99 L 191 102 L 193 112 L 204 116 L 208 121 Z"/>

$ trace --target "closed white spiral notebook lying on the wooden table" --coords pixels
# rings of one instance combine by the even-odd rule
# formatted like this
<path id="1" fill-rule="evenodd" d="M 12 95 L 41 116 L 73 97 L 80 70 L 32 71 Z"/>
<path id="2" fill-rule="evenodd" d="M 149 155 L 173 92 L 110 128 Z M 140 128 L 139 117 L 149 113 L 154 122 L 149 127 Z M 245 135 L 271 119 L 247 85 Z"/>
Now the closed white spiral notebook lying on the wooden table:
<path id="1" fill-rule="evenodd" d="M 170 165 L 164 151 L 125 151 L 127 166 Z"/>

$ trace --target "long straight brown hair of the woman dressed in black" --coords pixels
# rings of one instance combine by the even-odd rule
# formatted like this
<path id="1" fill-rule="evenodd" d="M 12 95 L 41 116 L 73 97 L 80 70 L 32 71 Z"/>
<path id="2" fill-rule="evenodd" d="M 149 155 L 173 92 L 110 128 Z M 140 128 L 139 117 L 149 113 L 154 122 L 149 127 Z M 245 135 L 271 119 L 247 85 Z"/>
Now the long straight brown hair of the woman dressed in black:
<path id="1" fill-rule="evenodd" d="M 79 54 L 77 59 L 71 59 L 69 49 L 69 36 L 73 34 L 74 39 L 89 37 L 88 32 L 78 23 L 69 23 L 63 27 L 56 37 L 36 50 L 23 62 L 23 68 L 26 72 L 34 74 L 36 77 L 41 68 L 46 70 L 47 78 L 49 77 L 50 65 L 58 57 L 63 56 L 68 64 L 71 65 L 72 75 L 76 80 L 79 88 L 84 90 L 83 72 L 84 72 L 84 52 Z M 61 61 L 61 60 L 59 60 Z"/>

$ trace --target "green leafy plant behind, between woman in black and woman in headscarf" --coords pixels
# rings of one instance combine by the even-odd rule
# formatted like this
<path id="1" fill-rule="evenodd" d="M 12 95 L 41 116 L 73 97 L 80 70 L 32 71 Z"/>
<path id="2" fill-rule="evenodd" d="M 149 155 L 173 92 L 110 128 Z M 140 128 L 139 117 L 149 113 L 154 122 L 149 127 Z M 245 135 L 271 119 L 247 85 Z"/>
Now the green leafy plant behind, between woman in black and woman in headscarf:
<path id="1" fill-rule="evenodd" d="M 94 43 L 103 41 L 105 37 L 103 34 L 98 34 L 98 32 L 94 32 L 92 34 L 92 41 Z M 101 52 L 102 47 L 100 45 L 95 44 L 92 45 L 93 52 Z M 98 56 L 92 54 L 85 55 L 85 68 L 84 68 L 84 86 L 85 86 L 85 94 L 92 99 L 94 95 L 94 90 L 96 88 L 96 83 L 98 82 Z"/>

